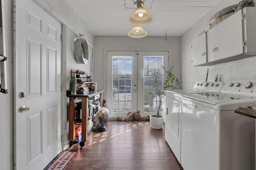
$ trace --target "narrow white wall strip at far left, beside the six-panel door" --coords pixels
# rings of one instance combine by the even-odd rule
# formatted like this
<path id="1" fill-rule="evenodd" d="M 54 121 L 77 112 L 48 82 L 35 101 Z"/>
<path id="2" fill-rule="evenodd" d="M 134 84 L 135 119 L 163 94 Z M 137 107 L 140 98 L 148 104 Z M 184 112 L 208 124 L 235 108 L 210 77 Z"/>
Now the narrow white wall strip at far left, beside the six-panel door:
<path id="1" fill-rule="evenodd" d="M 13 0 L 4 2 L 8 94 L 0 93 L 0 169 L 12 170 L 14 160 L 14 92 L 13 92 Z M 2 35 L 1 35 L 2 36 Z"/>

